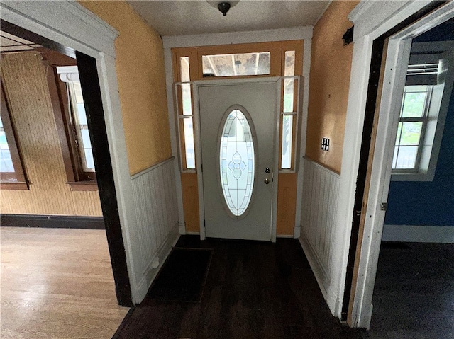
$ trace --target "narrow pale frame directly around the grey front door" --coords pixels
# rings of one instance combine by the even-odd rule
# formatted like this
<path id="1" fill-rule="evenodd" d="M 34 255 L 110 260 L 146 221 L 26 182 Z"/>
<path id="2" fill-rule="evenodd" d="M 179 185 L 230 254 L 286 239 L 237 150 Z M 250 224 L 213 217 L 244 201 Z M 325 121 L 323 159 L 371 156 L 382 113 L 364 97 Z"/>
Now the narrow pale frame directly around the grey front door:
<path id="1" fill-rule="evenodd" d="M 201 163 L 201 117 L 200 117 L 200 106 L 199 106 L 199 88 L 201 87 L 213 87 L 213 86 L 226 86 L 226 85 L 239 85 L 239 84 L 276 84 L 276 107 L 275 107 L 275 132 L 273 136 L 273 145 L 275 146 L 273 164 L 273 180 L 272 180 L 272 220 L 271 220 L 271 241 L 276 242 L 276 227 L 277 227 L 277 188 L 278 188 L 278 174 L 279 174 L 279 137 L 280 130 L 280 93 L 282 88 L 282 77 L 260 77 L 260 78 L 248 78 L 248 79 L 210 79 L 210 80 L 198 80 L 193 81 L 192 90 L 194 93 L 194 100 L 196 101 L 196 110 L 194 112 L 194 142 L 196 147 L 196 171 L 197 171 L 197 185 L 199 191 L 199 226 L 200 226 L 200 239 L 206 239 L 205 232 L 205 207 L 204 207 L 204 178 L 202 176 L 202 163 Z"/>

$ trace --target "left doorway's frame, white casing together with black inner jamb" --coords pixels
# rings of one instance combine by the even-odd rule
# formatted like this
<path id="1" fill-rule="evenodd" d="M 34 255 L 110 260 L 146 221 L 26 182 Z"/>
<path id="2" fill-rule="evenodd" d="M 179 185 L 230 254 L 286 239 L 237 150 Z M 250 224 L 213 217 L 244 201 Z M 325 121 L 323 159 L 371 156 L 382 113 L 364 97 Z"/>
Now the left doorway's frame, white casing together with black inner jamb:
<path id="1" fill-rule="evenodd" d="M 116 79 L 114 40 L 119 33 L 75 1 L 2 1 L 1 15 L 1 19 L 8 23 L 35 33 L 49 42 L 56 42 L 55 45 L 48 47 L 53 47 L 58 52 L 67 54 L 77 50 L 93 58 L 89 61 L 88 70 L 96 67 L 101 94 L 101 98 L 96 98 L 96 103 L 102 102 L 104 111 L 104 117 L 96 119 L 94 127 L 105 130 L 106 133 L 101 139 L 107 141 L 98 151 L 102 152 L 105 147 L 108 148 L 111 161 L 111 166 L 105 171 L 110 173 L 109 178 L 106 178 L 109 182 L 106 181 L 105 187 L 100 189 L 100 194 L 103 190 L 116 193 L 115 197 L 110 199 L 116 201 L 107 200 L 109 210 L 103 210 L 105 221 L 109 219 L 109 225 L 106 227 L 108 238 L 111 240 L 109 251 L 116 254 L 116 258 L 111 256 L 116 294 L 122 306 L 138 304 L 145 294 L 138 286 L 137 268 L 133 262 L 135 246 L 131 240 L 133 234 L 129 227 L 136 222 Z M 69 50 L 65 48 L 59 50 L 59 46 L 68 47 Z M 104 125 L 101 120 L 104 120 Z M 96 163 L 96 167 L 99 167 L 98 165 L 99 163 Z M 101 181 L 99 179 L 98 183 Z"/>

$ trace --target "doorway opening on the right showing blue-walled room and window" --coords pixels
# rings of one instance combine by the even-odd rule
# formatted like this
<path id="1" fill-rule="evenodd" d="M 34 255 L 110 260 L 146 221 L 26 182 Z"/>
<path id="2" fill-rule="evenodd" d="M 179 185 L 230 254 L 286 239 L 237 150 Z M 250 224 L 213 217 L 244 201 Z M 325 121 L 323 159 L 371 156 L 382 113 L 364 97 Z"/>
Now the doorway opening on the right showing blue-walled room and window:
<path id="1" fill-rule="evenodd" d="M 450 19 L 411 41 L 370 338 L 391 332 L 403 338 L 413 338 L 414 332 L 421 338 L 447 338 L 454 331 L 447 307 L 452 299 L 454 242 L 453 28 Z M 440 323 L 418 326 L 421 318 Z M 405 330 L 409 327 L 412 333 Z"/>

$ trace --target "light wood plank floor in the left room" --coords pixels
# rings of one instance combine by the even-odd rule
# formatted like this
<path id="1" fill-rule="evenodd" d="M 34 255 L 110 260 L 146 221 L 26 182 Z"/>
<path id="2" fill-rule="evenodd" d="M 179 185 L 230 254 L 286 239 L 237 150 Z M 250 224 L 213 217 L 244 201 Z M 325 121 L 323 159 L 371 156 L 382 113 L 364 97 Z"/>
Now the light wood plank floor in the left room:
<path id="1" fill-rule="evenodd" d="M 111 338 L 115 296 L 106 232 L 0 227 L 0 338 Z"/>

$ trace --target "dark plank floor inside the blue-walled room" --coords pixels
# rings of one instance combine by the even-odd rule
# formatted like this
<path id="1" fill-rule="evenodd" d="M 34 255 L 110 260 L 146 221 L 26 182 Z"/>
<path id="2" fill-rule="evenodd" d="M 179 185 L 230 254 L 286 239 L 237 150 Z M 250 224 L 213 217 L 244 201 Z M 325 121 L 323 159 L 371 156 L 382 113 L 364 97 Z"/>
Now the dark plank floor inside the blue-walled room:
<path id="1" fill-rule="evenodd" d="M 454 338 L 454 245 L 382 243 L 370 339 Z"/>

